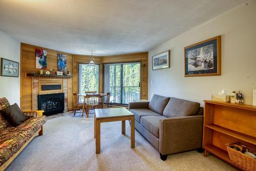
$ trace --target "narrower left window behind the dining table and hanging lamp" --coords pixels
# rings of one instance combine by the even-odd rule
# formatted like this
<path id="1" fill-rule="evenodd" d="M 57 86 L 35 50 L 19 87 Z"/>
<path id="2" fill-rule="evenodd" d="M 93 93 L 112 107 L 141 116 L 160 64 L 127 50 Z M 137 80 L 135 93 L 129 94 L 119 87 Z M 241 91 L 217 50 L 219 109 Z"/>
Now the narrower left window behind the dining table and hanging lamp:
<path id="1" fill-rule="evenodd" d="M 78 94 L 85 92 L 99 92 L 99 65 L 78 65 Z M 82 98 L 79 99 L 82 101 Z"/>

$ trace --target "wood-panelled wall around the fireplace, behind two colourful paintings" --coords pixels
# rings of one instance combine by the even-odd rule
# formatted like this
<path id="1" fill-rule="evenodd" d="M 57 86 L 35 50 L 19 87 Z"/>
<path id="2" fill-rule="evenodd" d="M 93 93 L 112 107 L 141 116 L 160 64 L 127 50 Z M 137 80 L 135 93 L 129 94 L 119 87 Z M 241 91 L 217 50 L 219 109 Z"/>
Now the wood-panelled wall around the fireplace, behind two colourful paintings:
<path id="1" fill-rule="evenodd" d="M 73 55 L 65 52 L 59 52 L 52 49 L 38 46 L 20 44 L 20 108 L 22 110 L 32 110 L 32 78 L 25 77 L 25 73 L 40 72 L 35 68 L 35 48 L 47 50 L 47 70 L 57 71 L 57 54 L 67 55 L 67 70 L 73 73 Z M 61 78 L 58 78 L 61 79 Z M 61 80 L 62 81 L 62 80 Z M 50 83 L 50 82 L 49 82 Z M 73 109 L 73 78 L 68 79 L 68 110 Z"/>

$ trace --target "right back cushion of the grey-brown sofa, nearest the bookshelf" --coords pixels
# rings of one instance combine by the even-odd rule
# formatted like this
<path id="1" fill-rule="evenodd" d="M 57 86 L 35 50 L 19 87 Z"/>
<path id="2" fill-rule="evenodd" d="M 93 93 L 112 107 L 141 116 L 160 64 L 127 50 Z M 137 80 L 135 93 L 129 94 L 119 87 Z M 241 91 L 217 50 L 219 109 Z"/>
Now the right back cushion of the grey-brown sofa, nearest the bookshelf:
<path id="1" fill-rule="evenodd" d="M 197 115 L 200 108 L 200 103 L 178 99 L 170 98 L 168 104 L 166 105 L 163 115 L 170 117 L 180 117 L 180 116 L 193 116 Z"/>

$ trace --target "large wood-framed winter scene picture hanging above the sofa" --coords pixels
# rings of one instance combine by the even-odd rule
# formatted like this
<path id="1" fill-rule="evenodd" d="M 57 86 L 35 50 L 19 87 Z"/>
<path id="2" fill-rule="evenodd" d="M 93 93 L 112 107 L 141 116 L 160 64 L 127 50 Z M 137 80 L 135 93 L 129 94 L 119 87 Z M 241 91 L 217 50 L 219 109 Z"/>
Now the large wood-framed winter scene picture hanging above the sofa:
<path id="1" fill-rule="evenodd" d="M 221 36 L 184 48 L 185 77 L 221 75 Z"/>

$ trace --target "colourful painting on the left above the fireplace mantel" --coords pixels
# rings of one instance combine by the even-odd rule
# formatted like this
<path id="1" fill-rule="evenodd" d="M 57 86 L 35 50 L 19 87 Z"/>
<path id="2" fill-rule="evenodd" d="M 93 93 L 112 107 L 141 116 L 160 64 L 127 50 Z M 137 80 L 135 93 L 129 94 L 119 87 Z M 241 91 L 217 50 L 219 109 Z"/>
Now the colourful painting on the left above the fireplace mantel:
<path id="1" fill-rule="evenodd" d="M 35 49 L 35 68 L 47 69 L 47 51 Z"/>

